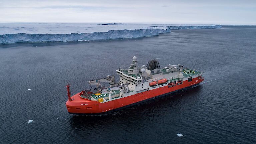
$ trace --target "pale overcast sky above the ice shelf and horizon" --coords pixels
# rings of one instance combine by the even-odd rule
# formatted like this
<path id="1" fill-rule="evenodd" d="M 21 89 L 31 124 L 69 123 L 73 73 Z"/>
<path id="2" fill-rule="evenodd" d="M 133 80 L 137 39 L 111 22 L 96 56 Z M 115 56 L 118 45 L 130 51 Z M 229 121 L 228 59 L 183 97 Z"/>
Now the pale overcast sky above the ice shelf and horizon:
<path id="1" fill-rule="evenodd" d="M 256 0 L 0 0 L 0 22 L 256 25 Z"/>

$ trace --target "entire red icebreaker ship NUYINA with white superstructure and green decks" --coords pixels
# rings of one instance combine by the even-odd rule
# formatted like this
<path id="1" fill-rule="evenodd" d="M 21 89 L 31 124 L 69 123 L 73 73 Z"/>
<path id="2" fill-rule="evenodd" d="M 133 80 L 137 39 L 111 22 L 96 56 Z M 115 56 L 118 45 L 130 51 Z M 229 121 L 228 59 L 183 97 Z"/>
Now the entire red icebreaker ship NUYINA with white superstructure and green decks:
<path id="1" fill-rule="evenodd" d="M 204 80 L 203 72 L 185 68 L 183 65 L 167 65 L 160 68 L 158 60 L 150 60 L 147 66 L 138 66 L 137 57 L 132 58 L 126 69 L 116 70 L 114 75 L 88 81 L 93 89 L 82 90 L 71 96 L 70 85 L 66 86 L 67 110 L 75 115 L 100 115 L 116 112 L 146 101 L 193 88 Z M 109 86 L 103 86 L 107 82 Z"/>

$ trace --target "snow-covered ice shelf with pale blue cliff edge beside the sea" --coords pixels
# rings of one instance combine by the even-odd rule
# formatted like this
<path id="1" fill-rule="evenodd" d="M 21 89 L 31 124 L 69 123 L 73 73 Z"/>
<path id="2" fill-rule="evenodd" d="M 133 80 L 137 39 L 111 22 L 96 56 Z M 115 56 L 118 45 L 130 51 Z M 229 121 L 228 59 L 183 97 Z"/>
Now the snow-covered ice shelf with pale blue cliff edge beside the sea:
<path id="1" fill-rule="evenodd" d="M 170 33 L 171 29 L 209 28 L 221 28 L 221 25 L 0 23 L 0 44 L 138 38 Z"/>

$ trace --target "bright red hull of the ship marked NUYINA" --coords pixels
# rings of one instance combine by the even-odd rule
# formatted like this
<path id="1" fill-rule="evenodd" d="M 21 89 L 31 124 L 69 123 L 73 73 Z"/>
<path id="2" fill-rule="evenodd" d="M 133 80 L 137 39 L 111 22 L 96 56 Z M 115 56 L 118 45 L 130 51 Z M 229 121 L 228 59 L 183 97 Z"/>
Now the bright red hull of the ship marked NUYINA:
<path id="1" fill-rule="evenodd" d="M 98 115 L 104 113 L 115 112 L 130 106 L 134 106 L 148 100 L 152 100 L 158 97 L 162 97 L 180 90 L 184 90 L 195 85 L 198 85 L 203 81 L 198 77 L 193 78 L 192 81 L 183 81 L 182 84 L 173 87 L 163 86 L 150 91 L 141 92 L 135 95 L 127 96 L 124 98 L 112 100 L 109 102 L 100 103 L 98 101 L 92 101 L 89 99 L 81 98 L 81 93 L 73 95 L 72 101 L 67 101 L 66 106 L 70 114 L 84 114 L 84 115 Z"/>

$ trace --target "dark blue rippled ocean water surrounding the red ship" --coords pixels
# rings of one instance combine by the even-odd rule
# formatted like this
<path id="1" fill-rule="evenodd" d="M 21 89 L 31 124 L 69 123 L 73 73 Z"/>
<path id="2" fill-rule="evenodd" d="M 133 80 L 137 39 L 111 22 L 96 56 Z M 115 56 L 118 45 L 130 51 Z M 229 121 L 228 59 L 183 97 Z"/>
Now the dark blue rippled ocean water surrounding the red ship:
<path id="1" fill-rule="evenodd" d="M 0 45 L 0 143 L 256 143 L 256 27 L 171 31 Z M 204 71 L 205 81 L 112 114 L 68 114 L 67 82 L 78 93 L 90 88 L 88 80 L 128 67 L 133 56 L 139 65 L 158 59 L 161 67 Z"/>

